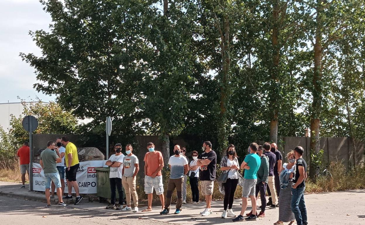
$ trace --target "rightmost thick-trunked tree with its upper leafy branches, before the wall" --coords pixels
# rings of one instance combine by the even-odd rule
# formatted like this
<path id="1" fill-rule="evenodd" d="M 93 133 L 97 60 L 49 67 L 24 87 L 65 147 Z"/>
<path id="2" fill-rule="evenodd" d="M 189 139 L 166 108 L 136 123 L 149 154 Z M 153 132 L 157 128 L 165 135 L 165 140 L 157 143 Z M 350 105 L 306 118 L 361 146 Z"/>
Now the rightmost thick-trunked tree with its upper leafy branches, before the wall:
<path id="1" fill-rule="evenodd" d="M 311 106 L 311 142 L 310 155 L 317 155 L 319 146 L 320 116 L 323 97 L 323 59 L 337 40 L 354 34 L 364 18 L 361 1 L 331 1 L 315 0 L 307 2 L 308 11 L 314 11 L 315 21 L 309 19 L 314 52 L 314 71 L 312 74 L 312 106 Z M 315 179 L 318 174 L 317 165 L 310 160 L 310 176 Z"/>

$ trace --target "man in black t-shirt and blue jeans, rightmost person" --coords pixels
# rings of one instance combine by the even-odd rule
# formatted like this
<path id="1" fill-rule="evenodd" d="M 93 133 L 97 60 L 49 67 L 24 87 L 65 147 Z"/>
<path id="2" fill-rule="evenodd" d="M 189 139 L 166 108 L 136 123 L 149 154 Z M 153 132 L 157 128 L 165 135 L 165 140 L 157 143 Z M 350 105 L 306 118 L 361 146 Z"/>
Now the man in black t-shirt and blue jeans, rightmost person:
<path id="1" fill-rule="evenodd" d="M 300 146 L 294 148 L 296 164 L 293 173 L 293 188 L 291 208 L 295 215 L 297 225 L 307 225 L 307 209 L 304 202 L 304 190 L 306 189 L 307 162 L 302 158 L 304 149 Z"/>

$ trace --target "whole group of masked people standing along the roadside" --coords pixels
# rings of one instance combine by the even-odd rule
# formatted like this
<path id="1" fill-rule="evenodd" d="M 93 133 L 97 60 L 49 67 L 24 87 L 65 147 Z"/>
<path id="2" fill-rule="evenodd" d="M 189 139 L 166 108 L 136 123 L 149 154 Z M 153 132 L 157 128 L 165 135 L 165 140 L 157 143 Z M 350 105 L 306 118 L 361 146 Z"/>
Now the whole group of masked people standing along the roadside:
<path id="1" fill-rule="evenodd" d="M 25 145 L 26 143 L 24 143 Z M 62 146 L 65 146 L 65 148 Z M 111 155 L 105 163 L 105 165 L 110 166 L 111 187 L 111 204 L 106 209 L 132 211 L 133 198 L 133 211 L 139 212 L 136 191 L 139 160 L 133 154 L 131 144 L 127 144 L 125 147 L 126 155 L 122 153 L 122 144 L 116 144 L 114 150 L 115 154 Z M 176 189 L 177 202 L 174 214 L 179 214 L 182 205 L 186 203 L 186 184 L 189 177 L 192 192 L 191 204 L 199 203 L 199 194 L 202 193 L 205 197 L 206 206 L 200 214 L 201 216 L 212 214 L 211 200 L 214 181 L 216 180 L 217 155 L 212 150 L 210 141 L 204 141 L 202 151 L 201 154 L 193 151 L 193 160 L 189 163 L 187 156 L 185 156 L 186 148 L 180 148 L 178 145 L 174 146 L 174 155 L 168 161 L 170 177 L 165 199 L 161 173 L 162 168 L 165 166 L 164 159 L 162 153 L 155 150 L 154 143 L 147 143 L 147 153 L 143 161 L 145 162 L 144 191 L 147 194 L 148 205 L 142 212 L 152 211 L 153 190 L 155 190 L 161 201 L 160 214 L 169 214 L 172 194 Z M 233 219 L 235 222 L 256 220 L 257 217 L 265 217 L 266 206 L 269 206 L 271 209 L 279 207 L 278 221 L 274 225 L 284 225 L 284 222 L 290 222 L 289 225 L 293 225 L 295 222 L 297 225 L 306 225 L 307 211 L 304 202 L 304 190 L 307 178 L 307 163 L 302 158 L 304 149 L 298 146 L 290 151 L 286 155 L 287 163 L 282 163 L 283 156 L 277 150 L 276 143 L 265 143 L 263 146 L 251 143 L 247 151 L 248 154 L 244 156 L 240 165 L 235 146 L 230 144 L 220 162 L 222 172 L 218 178 L 219 191 L 224 194 L 221 217 L 235 217 Z M 66 159 L 66 169 L 62 164 L 64 158 Z M 77 205 L 81 201 L 82 197 L 78 193 L 76 183 L 78 163 L 77 148 L 67 137 L 57 138 L 56 141 L 47 143 L 47 149 L 42 151 L 40 160 L 46 177 L 47 207 L 51 206 L 50 195 L 54 193 L 54 189 L 50 192 L 51 183 L 57 191 L 58 205 L 68 206 L 62 201 L 64 186 L 61 185 L 61 181 L 63 181 L 61 179 L 64 179 L 65 173 L 68 195 L 64 196 L 63 199 L 73 198 L 71 191 L 74 187 L 76 191 L 75 204 Z M 24 166 L 21 165 L 20 167 L 22 169 Z M 199 180 L 200 188 L 198 185 Z M 232 209 L 237 186 L 242 187 L 242 207 L 238 216 Z M 126 202 L 123 198 L 122 187 L 126 191 Z M 116 205 L 116 191 L 119 194 L 118 205 Z M 266 201 L 266 191 L 269 195 L 268 202 Z M 258 193 L 260 193 L 261 206 L 257 206 Z M 244 217 L 248 198 L 251 199 L 252 210 Z M 123 205 L 125 206 L 123 207 Z M 260 209 L 260 212 L 257 213 L 256 209 Z"/>

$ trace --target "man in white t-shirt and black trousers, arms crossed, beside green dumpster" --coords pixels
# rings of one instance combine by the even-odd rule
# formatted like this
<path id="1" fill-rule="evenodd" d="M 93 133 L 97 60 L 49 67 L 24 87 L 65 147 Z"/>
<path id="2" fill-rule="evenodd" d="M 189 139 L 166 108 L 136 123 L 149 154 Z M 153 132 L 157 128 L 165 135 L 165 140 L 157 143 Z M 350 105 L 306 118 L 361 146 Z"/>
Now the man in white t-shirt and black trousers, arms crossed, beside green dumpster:
<path id="1" fill-rule="evenodd" d="M 119 194 L 119 205 L 116 207 L 117 210 L 123 209 L 123 187 L 122 187 L 122 170 L 123 170 L 123 158 L 122 154 L 122 145 L 116 144 L 114 146 L 115 154 L 111 155 L 109 160 L 105 163 L 105 165 L 110 166 L 109 173 L 109 181 L 110 181 L 110 190 L 111 190 L 111 198 L 110 205 L 106 207 L 106 209 L 115 209 L 115 200 L 116 200 L 116 191 L 115 187 L 118 190 Z"/>

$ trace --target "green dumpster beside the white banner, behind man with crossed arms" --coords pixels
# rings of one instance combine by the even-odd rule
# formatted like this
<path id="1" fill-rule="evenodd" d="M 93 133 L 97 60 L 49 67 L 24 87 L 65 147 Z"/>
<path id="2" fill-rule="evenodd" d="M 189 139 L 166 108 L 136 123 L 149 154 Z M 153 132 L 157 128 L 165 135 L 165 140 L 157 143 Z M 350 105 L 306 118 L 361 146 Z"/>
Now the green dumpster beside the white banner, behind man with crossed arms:
<path id="1" fill-rule="evenodd" d="M 104 168 L 95 168 L 96 170 L 96 192 L 97 196 L 103 198 L 110 198 L 111 190 L 110 190 L 110 182 L 109 182 L 109 167 Z M 123 198 L 126 197 L 126 191 L 123 188 Z M 119 194 L 116 191 L 116 200 L 118 201 Z"/>

